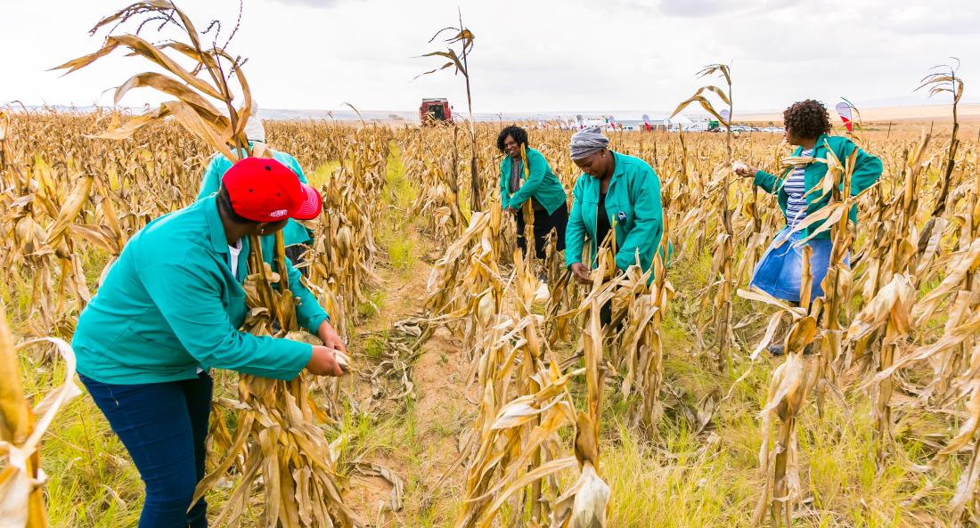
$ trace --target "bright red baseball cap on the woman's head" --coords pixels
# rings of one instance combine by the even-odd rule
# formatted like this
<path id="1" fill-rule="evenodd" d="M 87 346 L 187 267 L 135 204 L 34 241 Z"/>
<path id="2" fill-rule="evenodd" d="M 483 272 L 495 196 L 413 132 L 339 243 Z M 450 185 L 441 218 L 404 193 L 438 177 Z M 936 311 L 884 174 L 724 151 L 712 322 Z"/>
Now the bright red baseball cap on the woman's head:
<path id="1" fill-rule="evenodd" d="M 309 220 L 323 207 L 317 189 L 271 158 L 245 158 L 221 177 L 231 209 L 255 221 Z"/>

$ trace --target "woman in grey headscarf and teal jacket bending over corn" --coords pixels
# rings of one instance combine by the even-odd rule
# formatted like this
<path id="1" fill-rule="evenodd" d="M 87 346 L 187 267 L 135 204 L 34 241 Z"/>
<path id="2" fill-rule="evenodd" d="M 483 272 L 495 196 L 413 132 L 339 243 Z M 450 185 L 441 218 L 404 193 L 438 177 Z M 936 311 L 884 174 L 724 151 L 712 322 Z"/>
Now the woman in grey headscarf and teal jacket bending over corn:
<path id="1" fill-rule="evenodd" d="M 615 265 L 647 271 L 663 243 L 661 181 L 646 162 L 609 150 L 598 126 L 571 136 L 571 159 L 584 172 L 575 182 L 565 233 L 564 261 L 578 282 L 590 283 L 600 244 L 613 249 Z M 585 242 L 589 251 L 584 258 Z M 666 252 L 661 251 L 666 263 Z M 649 281 L 653 281 L 650 274 Z M 605 321 L 608 322 L 608 321 Z"/>

